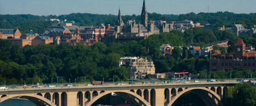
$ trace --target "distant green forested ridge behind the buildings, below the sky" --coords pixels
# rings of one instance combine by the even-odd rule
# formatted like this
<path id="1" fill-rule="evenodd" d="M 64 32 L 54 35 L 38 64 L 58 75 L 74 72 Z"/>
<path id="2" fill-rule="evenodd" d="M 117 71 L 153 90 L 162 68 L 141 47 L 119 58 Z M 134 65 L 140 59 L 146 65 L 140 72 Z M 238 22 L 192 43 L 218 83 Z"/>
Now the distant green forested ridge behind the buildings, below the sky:
<path id="1" fill-rule="evenodd" d="M 74 25 L 97 26 L 100 23 L 115 24 L 117 16 L 115 15 L 101 15 L 101 14 L 89 14 L 89 13 L 72 13 L 68 15 L 60 16 L 35 16 L 30 14 L 20 15 L 0 15 L 0 28 L 1 29 L 16 29 L 18 28 L 21 33 L 29 33 L 33 30 L 33 33 L 43 33 L 51 23 L 56 21 L 50 21 L 50 19 L 67 20 L 67 22 L 75 21 Z M 136 20 L 140 22 L 140 15 L 125 15 L 122 16 L 124 22 L 128 20 Z M 256 24 L 256 13 L 250 14 L 235 14 L 232 12 L 217 12 L 217 13 L 188 13 L 180 15 L 161 15 L 157 13 L 148 13 L 148 20 L 166 20 L 166 21 L 180 21 L 180 20 L 193 20 L 194 23 L 200 22 L 201 24 L 211 24 L 211 26 L 230 27 L 234 24 L 243 24 L 245 28 L 251 28 Z"/>

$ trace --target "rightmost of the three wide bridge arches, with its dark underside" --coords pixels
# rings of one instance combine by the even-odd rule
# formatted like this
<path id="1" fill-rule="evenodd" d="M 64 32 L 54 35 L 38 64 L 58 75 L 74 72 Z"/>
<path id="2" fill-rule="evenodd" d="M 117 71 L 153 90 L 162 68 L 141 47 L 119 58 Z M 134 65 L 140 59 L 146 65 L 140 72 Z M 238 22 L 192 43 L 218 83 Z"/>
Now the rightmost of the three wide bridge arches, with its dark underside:
<path id="1" fill-rule="evenodd" d="M 171 106 L 174 101 L 176 101 L 182 94 L 188 92 L 188 91 L 194 91 L 204 102 L 207 106 L 215 106 L 215 105 L 221 105 L 221 97 L 214 91 L 210 90 L 208 87 L 198 87 L 198 88 L 188 88 L 184 89 L 183 91 L 179 92 L 176 96 L 174 96 L 168 106 Z M 210 96 L 210 95 L 211 96 Z M 214 101 L 216 100 L 216 101 Z"/>

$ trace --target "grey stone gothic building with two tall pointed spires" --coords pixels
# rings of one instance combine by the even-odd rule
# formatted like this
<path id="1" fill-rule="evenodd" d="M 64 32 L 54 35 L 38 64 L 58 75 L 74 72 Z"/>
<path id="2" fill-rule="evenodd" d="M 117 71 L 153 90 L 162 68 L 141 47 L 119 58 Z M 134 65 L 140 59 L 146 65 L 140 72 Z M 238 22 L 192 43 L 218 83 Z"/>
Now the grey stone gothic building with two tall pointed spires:
<path id="1" fill-rule="evenodd" d="M 166 21 L 148 21 L 148 13 L 144 0 L 141 10 L 141 23 L 136 23 L 135 20 L 128 20 L 127 23 L 124 23 L 119 8 L 115 29 L 112 33 L 108 31 L 101 41 L 106 45 L 111 42 L 139 41 L 147 38 L 149 35 L 170 32 L 171 30 L 173 30 L 173 24 L 167 23 Z"/>

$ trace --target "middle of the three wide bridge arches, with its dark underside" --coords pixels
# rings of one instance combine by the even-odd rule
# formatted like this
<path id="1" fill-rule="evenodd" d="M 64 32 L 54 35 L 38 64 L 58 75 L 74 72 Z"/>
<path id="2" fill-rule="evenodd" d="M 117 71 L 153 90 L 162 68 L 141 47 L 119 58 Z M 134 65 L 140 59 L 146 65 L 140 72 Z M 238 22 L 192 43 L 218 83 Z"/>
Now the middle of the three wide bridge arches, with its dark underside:
<path id="1" fill-rule="evenodd" d="M 113 91 L 105 91 L 104 93 L 101 93 L 98 96 L 95 96 L 91 101 L 85 102 L 85 106 L 91 106 L 95 101 L 97 101 L 98 99 L 100 99 L 101 97 L 112 93 Z M 118 94 L 120 97 L 126 99 L 128 101 L 129 104 L 133 105 L 133 106 L 137 106 L 137 105 L 144 105 L 144 106 L 150 106 L 150 103 L 146 100 L 144 100 L 144 98 L 142 98 L 141 96 L 139 96 L 138 94 L 132 92 L 132 91 L 123 91 L 123 90 L 115 90 L 114 93 Z M 139 102 L 134 102 L 138 100 Z"/>

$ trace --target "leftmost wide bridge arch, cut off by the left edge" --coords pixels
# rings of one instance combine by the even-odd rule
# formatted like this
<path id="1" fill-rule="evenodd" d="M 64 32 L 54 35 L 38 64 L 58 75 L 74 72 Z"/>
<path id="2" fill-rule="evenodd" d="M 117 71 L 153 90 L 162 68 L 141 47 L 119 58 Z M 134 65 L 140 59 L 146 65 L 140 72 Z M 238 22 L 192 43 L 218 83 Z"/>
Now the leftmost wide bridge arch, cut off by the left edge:
<path id="1" fill-rule="evenodd" d="M 34 104 L 36 105 L 39 105 L 39 106 L 45 106 L 45 105 L 49 105 L 49 106 L 57 106 L 56 104 L 54 104 L 53 102 L 51 102 L 50 100 L 40 96 L 40 95 L 36 95 L 36 94 L 23 94 L 23 95 L 7 95 L 5 97 L 2 97 L 0 99 L 0 102 L 3 102 L 7 99 L 10 99 L 10 98 L 14 98 L 14 97 L 18 97 L 18 96 L 21 96 L 21 97 L 24 97 L 26 99 L 29 99 L 31 100 Z"/>

